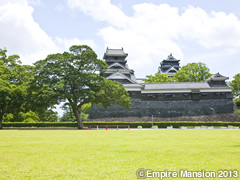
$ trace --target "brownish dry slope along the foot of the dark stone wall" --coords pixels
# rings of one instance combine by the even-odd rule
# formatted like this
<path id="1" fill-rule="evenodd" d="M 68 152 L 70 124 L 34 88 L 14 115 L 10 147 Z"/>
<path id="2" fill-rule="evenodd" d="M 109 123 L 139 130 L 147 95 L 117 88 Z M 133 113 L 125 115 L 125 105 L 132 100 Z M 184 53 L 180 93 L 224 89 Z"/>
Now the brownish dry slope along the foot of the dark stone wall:
<path id="1" fill-rule="evenodd" d="M 116 117 L 116 118 L 99 118 L 99 119 L 89 119 L 91 121 L 102 121 L 102 122 L 152 122 L 152 117 Z M 207 115 L 207 116 L 181 116 L 181 117 L 171 117 L 171 118 L 161 118 L 153 117 L 154 122 L 163 121 L 202 121 L 202 122 L 212 122 L 212 121 L 222 121 L 222 122 L 240 122 L 240 118 L 235 114 L 217 114 L 217 115 Z"/>

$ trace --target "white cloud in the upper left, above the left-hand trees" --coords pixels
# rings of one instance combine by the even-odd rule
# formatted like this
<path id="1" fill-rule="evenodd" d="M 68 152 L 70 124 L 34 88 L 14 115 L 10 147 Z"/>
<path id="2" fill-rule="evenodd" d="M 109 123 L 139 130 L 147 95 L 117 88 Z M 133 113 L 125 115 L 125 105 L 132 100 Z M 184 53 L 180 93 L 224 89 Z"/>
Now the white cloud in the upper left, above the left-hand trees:
<path id="1" fill-rule="evenodd" d="M 8 55 L 18 54 L 23 64 L 67 51 L 73 44 L 86 43 L 96 47 L 93 41 L 50 37 L 33 19 L 33 11 L 27 0 L 1 1 L 0 48 L 6 48 Z"/>

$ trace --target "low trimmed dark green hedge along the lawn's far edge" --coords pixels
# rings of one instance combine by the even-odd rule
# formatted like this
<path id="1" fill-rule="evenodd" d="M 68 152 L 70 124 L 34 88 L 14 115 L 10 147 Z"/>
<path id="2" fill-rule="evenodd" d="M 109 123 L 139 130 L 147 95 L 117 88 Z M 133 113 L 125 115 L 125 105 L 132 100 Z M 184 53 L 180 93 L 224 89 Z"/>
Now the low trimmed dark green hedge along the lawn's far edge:
<path id="1" fill-rule="evenodd" d="M 137 128 L 138 126 L 142 126 L 143 128 L 151 128 L 151 122 L 84 122 L 84 126 L 96 128 L 97 126 L 100 127 L 128 127 Z M 172 126 L 173 128 L 179 128 L 181 126 L 236 126 L 240 127 L 240 122 L 189 122 L 189 121 L 181 121 L 181 122 L 155 122 L 153 123 L 154 126 L 158 126 L 159 128 L 166 128 L 167 126 Z M 3 128 L 29 128 L 29 127 L 36 127 L 36 128 L 50 128 L 50 127 L 65 127 L 65 128 L 76 128 L 77 122 L 39 122 L 39 123 L 23 123 L 23 122 L 10 122 L 10 123 L 3 123 Z"/>

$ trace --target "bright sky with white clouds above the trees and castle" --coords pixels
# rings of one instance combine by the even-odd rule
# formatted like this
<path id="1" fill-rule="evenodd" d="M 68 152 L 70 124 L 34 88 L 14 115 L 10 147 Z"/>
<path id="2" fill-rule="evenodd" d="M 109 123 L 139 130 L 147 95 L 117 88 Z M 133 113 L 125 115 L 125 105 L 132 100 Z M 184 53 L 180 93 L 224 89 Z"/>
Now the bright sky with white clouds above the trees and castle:
<path id="1" fill-rule="evenodd" d="M 239 0 L 1 0 L 0 48 L 23 64 L 87 44 L 98 57 L 124 48 L 138 78 L 170 53 L 180 65 L 240 73 Z"/>

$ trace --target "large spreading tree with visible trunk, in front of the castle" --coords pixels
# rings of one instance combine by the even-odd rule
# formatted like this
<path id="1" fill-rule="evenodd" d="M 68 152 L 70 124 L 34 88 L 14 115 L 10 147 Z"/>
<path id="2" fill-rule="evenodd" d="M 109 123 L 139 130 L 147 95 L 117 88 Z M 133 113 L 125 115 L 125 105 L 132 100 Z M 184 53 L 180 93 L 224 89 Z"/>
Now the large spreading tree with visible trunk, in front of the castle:
<path id="1" fill-rule="evenodd" d="M 67 101 L 79 129 L 83 128 L 81 112 L 84 104 L 104 107 L 119 104 L 130 108 L 130 97 L 123 85 L 97 74 L 107 69 L 107 64 L 97 59 L 89 46 L 72 46 L 69 50 L 48 55 L 35 63 L 35 86 L 42 89 L 43 101 Z"/>

